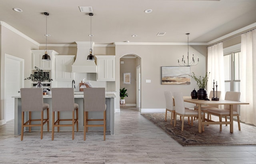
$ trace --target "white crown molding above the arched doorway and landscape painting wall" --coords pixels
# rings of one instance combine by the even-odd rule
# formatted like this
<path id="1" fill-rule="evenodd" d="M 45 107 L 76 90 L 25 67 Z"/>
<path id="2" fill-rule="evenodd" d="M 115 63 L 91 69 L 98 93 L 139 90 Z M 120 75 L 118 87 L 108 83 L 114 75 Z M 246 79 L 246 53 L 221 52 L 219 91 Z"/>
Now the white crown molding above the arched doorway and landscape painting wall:
<path id="1" fill-rule="evenodd" d="M 207 46 L 204 42 L 114 42 L 114 45 L 191 45 L 191 46 Z"/>

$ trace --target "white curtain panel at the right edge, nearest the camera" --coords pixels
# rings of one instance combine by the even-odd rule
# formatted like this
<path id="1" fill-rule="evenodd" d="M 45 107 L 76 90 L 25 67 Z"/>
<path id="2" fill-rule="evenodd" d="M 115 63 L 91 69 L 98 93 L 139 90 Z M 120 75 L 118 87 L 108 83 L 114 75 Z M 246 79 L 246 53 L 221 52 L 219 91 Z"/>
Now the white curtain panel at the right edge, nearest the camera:
<path id="1" fill-rule="evenodd" d="M 256 30 L 241 35 L 240 55 L 240 120 L 256 125 Z"/>

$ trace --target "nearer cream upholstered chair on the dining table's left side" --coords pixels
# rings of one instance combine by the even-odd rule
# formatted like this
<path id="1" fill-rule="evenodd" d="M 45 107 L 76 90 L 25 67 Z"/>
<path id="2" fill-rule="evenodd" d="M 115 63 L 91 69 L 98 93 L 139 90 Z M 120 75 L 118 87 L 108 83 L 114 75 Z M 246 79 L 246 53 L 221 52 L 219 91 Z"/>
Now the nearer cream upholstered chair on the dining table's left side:
<path id="1" fill-rule="evenodd" d="M 184 99 L 181 92 L 174 93 L 175 101 L 175 116 L 174 116 L 174 126 L 176 126 L 176 117 L 177 114 L 182 117 L 181 131 L 184 128 L 184 117 L 198 117 L 198 111 L 185 108 Z M 191 119 L 191 126 L 193 126 L 193 119 Z"/>

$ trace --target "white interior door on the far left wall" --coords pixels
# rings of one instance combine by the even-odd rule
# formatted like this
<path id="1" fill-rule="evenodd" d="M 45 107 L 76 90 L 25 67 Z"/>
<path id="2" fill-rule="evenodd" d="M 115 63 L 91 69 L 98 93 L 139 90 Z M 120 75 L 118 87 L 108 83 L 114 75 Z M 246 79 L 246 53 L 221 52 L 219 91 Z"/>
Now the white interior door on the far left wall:
<path id="1" fill-rule="evenodd" d="M 12 96 L 20 95 L 19 91 L 20 91 L 20 88 L 22 87 L 22 79 L 24 78 L 24 73 L 22 71 L 23 63 L 24 63 L 24 59 L 5 54 L 5 67 L 4 67 L 5 122 L 14 119 L 14 98 L 12 98 Z"/>

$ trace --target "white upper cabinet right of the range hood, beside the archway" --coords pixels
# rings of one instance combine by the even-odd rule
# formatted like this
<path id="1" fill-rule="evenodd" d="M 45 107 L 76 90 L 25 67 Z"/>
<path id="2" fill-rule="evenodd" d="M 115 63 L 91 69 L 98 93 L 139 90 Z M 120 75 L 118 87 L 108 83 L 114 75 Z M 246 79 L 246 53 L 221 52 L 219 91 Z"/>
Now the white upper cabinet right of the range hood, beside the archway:
<path id="1" fill-rule="evenodd" d="M 115 81 L 116 64 L 114 55 L 96 55 L 97 81 Z"/>

